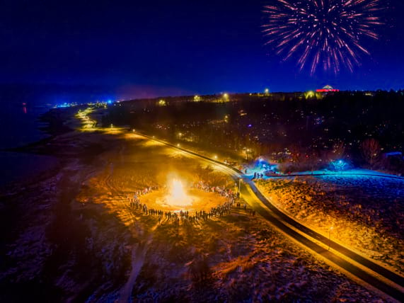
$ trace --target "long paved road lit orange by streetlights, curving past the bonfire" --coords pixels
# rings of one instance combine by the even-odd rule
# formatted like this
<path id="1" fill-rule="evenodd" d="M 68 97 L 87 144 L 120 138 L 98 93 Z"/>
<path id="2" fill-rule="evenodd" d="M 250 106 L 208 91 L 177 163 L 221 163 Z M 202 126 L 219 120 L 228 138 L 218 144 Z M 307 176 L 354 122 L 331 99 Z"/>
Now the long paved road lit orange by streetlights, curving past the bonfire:
<path id="1" fill-rule="evenodd" d="M 139 133 L 137 133 L 137 135 L 139 135 Z M 234 180 L 243 178 L 243 173 L 241 171 L 238 171 L 236 168 L 226 166 L 226 164 L 223 164 L 220 161 L 210 159 L 207 156 L 197 154 L 193 151 L 188 151 L 186 149 L 177 147 L 168 142 L 154 139 L 153 137 L 149 137 L 147 135 L 144 135 L 144 137 L 161 142 L 169 147 L 173 147 L 175 149 L 183 151 L 184 153 L 190 156 L 194 156 L 200 159 L 202 158 L 205 161 L 209 162 L 209 164 L 216 165 L 217 168 L 219 168 L 221 171 L 231 176 Z M 393 273 L 391 270 L 383 268 L 381 265 L 378 265 L 373 261 L 364 258 L 363 256 L 359 256 L 357 253 L 350 251 L 350 249 L 345 248 L 344 246 L 341 246 L 340 244 L 337 244 L 334 241 L 329 241 L 327 237 L 318 234 L 316 231 L 313 231 L 313 229 L 309 229 L 308 227 L 305 227 L 299 222 L 296 222 L 291 217 L 288 217 L 283 212 L 278 210 L 277 207 L 275 207 L 275 205 L 272 205 L 272 203 L 269 200 L 267 200 L 267 198 L 265 198 L 265 196 L 262 195 L 262 193 L 260 193 L 258 188 L 253 183 L 253 181 L 251 181 L 249 178 L 243 178 L 241 195 L 248 202 L 248 204 L 251 207 L 253 207 L 253 209 L 256 212 L 258 212 L 262 217 L 267 219 L 271 224 L 275 225 L 275 227 L 283 231 L 284 234 L 287 234 L 294 240 L 299 241 L 299 243 L 303 244 L 311 251 L 320 254 L 321 256 L 323 256 L 323 258 L 326 258 L 328 261 L 335 263 L 335 265 L 339 266 L 340 268 L 343 268 L 344 270 L 356 276 L 357 278 L 363 280 L 364 282 L 367 282 L 369 285 L 376 287 L 377 289 L 393 297 L 394 299 L 397 299 L 400 302 L 404 302 L 404 278 L 402 276 L 398 275 L 397 273 Z M 303 234 L 297 232 L 295 229 L 292 229 L 289 226 L 298 229 Z M 316 241 L 321 242 L 323 246 L 315 243 L 314 241 L 311 241 L 311 239 L 305 236 L 304 234 L 310 236 L 311 239 L 316 239 Z M 331 251 L 327 249 L 328 245 L 330 245 L 330 248 L 332 248 Z M 333 253 L 333 250 L 342 254 L 344 257 L 342 258 L 337 254 Z M 367 270 L 362 270 L 362 268 L 359 268 L 359 266 L 350 263 L 349 260 L 353 260 L 361 264 L 362 266 L 364 266 L 364 268 L 367 268 Z M 385 282 L 385 280 L 377 278 L 377 275 L 372 273 L 372 271 L 374 273 L 383 276 L 383 278 L 385 278 L 386 280 L 395 283 L 396 284 L 395 287 L 391 285 L 392 283 L 388 283 Z"/>

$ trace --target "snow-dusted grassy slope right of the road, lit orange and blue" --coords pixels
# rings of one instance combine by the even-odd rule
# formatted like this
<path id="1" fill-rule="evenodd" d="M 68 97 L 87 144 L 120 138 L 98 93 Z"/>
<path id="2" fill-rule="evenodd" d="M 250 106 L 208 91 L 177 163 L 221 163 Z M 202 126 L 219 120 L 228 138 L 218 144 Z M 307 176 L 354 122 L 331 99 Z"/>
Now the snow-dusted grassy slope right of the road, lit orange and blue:
<path id="1" fill-rule="evenodd" d="M 404 272 L 404 180 L 359 176 L 268 178 L 262 192 L 289 215 L 381 263 Z M 388 175 L 386 175 L 388 176 Z"/>

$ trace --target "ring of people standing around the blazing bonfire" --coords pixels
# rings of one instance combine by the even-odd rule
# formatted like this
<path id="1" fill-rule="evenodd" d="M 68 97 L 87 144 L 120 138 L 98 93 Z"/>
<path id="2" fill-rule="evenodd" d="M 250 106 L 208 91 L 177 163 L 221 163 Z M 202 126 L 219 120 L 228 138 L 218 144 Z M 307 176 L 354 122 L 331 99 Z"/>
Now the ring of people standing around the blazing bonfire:
<path id="1" fill-rule="evenodd" d="M 195 183 L 192 185 L 193 188 L 197 188 L 199 190 L 203 190 L 205 193 L 217 193 L 222 197 L 226 198 L 226 202 L 221 205 L 217 205 L 217 207 L 212 207 L 209 212 L 205 210 L 196 211 L 195 215 L 190 215 L 189 211 L 187 210 L 180 210 L 179 212 L 171 212 L 171 211 L 163 211 L 163 210 L 156 210 L 154 208 L 147 207 L 146 203 L 140 202 L 140 197 L 142 195 L 146 195 L 151 193 L 154 190 L 159 189 L 166 189 L 166 186 L 150 186 L 144 188 L 143 190 L 137 190 L 133 197 L 128 197 L 129 206 L 134 210 L 142 210 L 145 215 L 157 216 L 158 221 L 161 222 L 163 217 L 167 219 L 169 222 L 173 222 L 174 224 L 180 224 L 180 221 L 189 222 L 189 223 L 196 223 L 200 221 L 206 221 L 212 217 L 222 217 L 227 215 L 231 211 L 231 207 L 237 201 L 237 207 L 240 208 L 241 203 L 238 201 L 239 193 L 236 193 L 234 190 L 230 188 L 226 188 L 224 186 L 211 186 L 207 183 L 202 181 Z M 244 204 L 244 210 L 246 210 L 246 204 Z"/>

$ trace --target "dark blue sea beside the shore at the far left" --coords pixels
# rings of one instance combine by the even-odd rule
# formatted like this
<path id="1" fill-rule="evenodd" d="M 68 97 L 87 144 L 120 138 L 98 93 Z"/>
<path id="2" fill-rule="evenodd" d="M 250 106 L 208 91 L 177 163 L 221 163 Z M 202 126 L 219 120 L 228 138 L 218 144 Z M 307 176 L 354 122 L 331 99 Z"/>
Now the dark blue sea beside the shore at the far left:
<path id="1" fill-rule="evenodd" d="M 0 84 L 0 188 L 24 181 L 58 164 L 53 156 L 10 151 L 45 139 L 40 115 L 55 105 L 103 98 L 98 89 L 52 85 Z"/>

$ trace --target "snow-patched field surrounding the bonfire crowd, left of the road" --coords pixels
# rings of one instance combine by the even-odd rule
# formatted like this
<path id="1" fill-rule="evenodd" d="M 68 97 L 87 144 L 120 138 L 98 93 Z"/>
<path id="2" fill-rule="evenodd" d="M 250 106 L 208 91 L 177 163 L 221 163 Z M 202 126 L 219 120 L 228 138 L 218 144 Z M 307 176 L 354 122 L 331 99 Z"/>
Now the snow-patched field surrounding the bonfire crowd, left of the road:
<path id="1" fill-rule="evenodd" d="M 130 207 L 128 195 L 168 172 L 233 185 L 130 135 L 74 133 L 36 147 L 63 161 L 1 193 L 1 302 L 381 300 L 248 211 L 177 225 Z"/>

